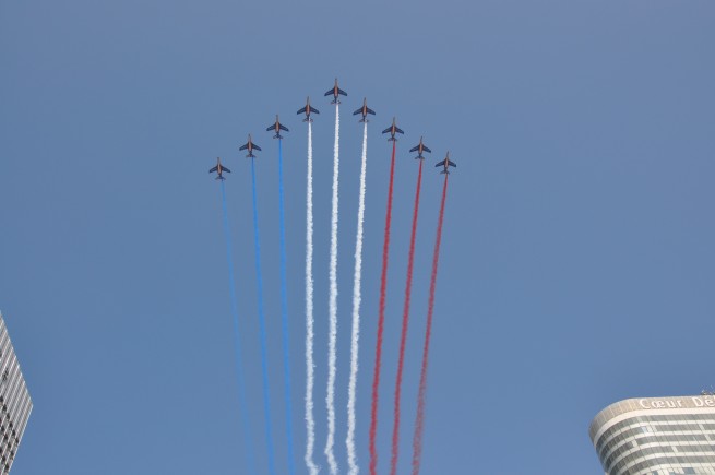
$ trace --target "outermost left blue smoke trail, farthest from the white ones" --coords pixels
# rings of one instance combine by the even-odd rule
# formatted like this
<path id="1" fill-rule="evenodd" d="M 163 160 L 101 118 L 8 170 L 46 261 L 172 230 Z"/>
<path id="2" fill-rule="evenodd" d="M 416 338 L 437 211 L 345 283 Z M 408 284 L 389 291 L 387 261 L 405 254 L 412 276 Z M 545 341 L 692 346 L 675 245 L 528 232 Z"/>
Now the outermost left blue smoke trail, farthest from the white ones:
<path id="1" fill-rule="evenodd" d="M 226 236 L 226 259 L 228 260 L 228 286 L 230 289 L 231 314 L 234 316 L 234 340 L 236 341 L 236 377 L 238 379 L 238 401 L 240 405 L 243 441 L 249 471 L 255 474 L 255 458 L 253 456 L 253 439 L 251 438 L 251 420 L 247 412 L 246 383 L 243 381 L 243 363 L 241 361 L 241 339 L 238 330 L 238 304 L 236 298 L 236 278 L 234 277 L 234 252 L 231 250 L 230 228 L 228 227 L 228 211 L 226 206 L 226 188 L 221 181 L 221 202 L 224 210 L 224 234 Z"/>

